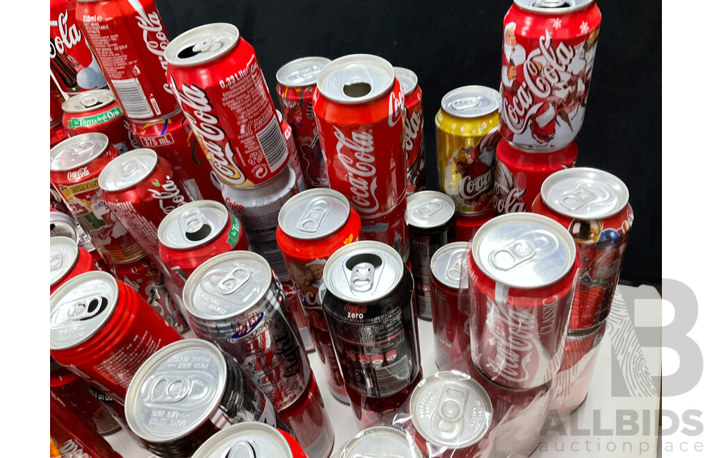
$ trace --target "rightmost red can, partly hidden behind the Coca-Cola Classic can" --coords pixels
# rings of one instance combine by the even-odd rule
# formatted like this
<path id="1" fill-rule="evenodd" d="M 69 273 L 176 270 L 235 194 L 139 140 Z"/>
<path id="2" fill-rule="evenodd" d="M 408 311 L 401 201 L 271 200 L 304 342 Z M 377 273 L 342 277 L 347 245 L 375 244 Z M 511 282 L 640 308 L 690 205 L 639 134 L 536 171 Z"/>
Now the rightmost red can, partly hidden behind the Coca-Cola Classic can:
<path id="1" fill-rule="evenodd" d="M 633 225 L 628 188 L 594 168 L 551 175 L 532 211 L 562 224 L 573 236 L 580 262 L 570 329 L 598 325 L 611 311 L 623 254 Z"/>

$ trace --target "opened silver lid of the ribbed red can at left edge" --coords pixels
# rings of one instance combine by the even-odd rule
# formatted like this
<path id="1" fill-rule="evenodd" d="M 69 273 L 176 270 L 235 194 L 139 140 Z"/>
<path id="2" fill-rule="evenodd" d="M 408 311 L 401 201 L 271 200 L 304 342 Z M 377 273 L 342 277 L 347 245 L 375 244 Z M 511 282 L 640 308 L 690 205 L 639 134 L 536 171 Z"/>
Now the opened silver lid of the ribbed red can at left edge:
<path id="1" fill-rule="evenodd" d="M 109 273 L 82 273 L 49 298 L 49 348 L 61 350 L 87 341 L 114 315 L 119 287 Z"/>

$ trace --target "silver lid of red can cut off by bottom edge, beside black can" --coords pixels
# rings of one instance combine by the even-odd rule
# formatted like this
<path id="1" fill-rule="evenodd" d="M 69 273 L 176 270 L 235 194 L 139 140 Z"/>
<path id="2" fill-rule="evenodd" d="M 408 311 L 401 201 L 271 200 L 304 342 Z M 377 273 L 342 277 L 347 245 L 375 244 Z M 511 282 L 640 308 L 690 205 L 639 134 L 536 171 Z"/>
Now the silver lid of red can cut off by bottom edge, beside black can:
<path id="1" fill-rule="evenodd" d="M 289 442 L 276 428 L 241 422 L 206 440 L 192 458 L 291 458 Z"/>

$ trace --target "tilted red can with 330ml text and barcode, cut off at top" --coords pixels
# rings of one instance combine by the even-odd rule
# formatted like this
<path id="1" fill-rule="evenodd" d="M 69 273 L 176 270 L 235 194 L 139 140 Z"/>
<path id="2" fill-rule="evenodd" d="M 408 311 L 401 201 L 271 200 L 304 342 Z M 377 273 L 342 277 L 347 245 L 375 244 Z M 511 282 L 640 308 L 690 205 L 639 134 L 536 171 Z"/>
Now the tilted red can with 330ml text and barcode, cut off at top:
<path id="1" fill-rule="evenodd" d="M 154 0 L 78 0 L 76 18 L 127 119 L 176 109 L 166 83 L 168 33 Z"/>

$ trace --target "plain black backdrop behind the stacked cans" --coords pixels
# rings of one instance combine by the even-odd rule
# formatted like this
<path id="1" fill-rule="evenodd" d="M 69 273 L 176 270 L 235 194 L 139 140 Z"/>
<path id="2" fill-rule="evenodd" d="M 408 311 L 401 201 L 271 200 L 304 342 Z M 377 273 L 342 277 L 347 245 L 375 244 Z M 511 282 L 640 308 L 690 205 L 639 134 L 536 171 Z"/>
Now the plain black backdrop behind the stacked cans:
<path id="1" fill-rule="evenodd" d="M 235 24 L 255 48 L 273 97 L 278 68 L 310 55 L 335 59 L 375 54 L 413 70 L 423 89 L 428 187 L 436 189 L 434 119 L 440 100 L 451 89 L 468 84 L 499 88 L 502 21 L 511 1 L 156 0 L 156 4 L 170 38 L 206 23 Z M 621 277 L 659 284 L 661 4 L 617 0 L 600 1 L 599 7 L 603 21 L 586 118 L 577 139 L 577 165 L 607 170 L 626 182 L 635 221 Z"/>

